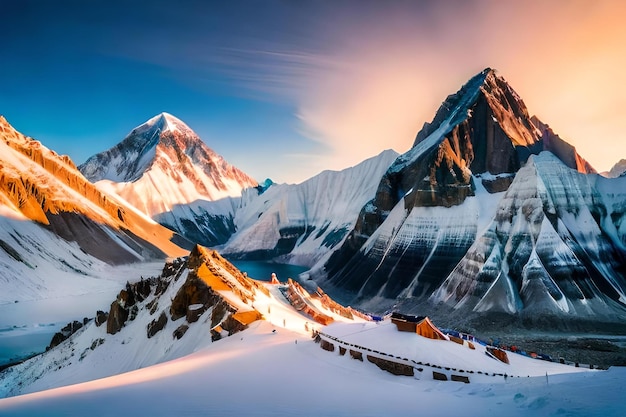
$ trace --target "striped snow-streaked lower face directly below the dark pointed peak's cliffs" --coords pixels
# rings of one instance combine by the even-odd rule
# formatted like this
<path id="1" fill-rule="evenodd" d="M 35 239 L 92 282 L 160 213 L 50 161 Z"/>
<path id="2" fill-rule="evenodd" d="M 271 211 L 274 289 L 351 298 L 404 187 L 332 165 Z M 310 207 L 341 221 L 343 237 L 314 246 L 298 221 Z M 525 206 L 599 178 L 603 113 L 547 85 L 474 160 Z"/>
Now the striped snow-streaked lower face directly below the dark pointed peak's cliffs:
<path id="1" fill-rule="evenodd" d="M 370 297 L 430 294 L 474 241 L 476 203 L 468 199 L 450 208 L 416 207 L 408 214 L 399 203 L 356 256 L 338 262 L 341 269 L 330 283 L 358 293 L 364 306 Z"/>

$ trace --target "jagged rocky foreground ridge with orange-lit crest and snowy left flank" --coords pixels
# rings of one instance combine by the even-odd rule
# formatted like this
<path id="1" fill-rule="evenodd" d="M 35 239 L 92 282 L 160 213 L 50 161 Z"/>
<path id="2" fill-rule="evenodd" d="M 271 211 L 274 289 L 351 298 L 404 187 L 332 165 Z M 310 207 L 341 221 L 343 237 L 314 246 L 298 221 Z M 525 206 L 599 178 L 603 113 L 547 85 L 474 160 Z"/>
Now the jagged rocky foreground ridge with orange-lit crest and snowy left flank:
<path id="1" fill-rule="evenodd" d="M 296 309 L 296 298 L 307 307 Z M 217 252 L 196 246 L 188 257 L 167 262 L 160 276 L 127 284 L 108 313 L 77 326 L 54 348 L 0 372 L 0 398 L 176 359 L 259 320 L 270 327 L 266 334 L 280 326 L 310 340 L 321 327 L 316 320 L 362 323 L 361 316 L 293 282 L 249 279 Z"/>

